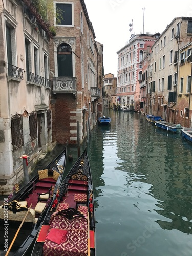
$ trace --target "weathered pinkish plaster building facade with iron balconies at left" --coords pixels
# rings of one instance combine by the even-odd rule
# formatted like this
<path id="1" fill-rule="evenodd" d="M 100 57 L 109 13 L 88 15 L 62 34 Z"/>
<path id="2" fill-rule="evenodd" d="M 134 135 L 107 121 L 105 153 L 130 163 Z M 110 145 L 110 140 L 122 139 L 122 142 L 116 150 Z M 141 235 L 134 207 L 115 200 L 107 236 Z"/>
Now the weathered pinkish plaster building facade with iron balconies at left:
<path id="1" fill-rule="evenodd" d="M 0 1 L 0 193 L 51 150 L 50 31 L 29 0 Z"/>

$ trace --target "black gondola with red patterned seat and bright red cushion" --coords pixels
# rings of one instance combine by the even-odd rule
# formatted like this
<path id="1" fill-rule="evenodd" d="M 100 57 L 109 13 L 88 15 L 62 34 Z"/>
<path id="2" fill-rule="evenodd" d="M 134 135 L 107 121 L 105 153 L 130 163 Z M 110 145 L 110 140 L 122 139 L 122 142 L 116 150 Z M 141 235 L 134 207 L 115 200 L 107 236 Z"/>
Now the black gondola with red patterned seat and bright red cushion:
<path id="1" fill-rule="evenodd" d="M 93 183 L 87 150 L 63 180 L 31 255 L 96 255 Z"/>

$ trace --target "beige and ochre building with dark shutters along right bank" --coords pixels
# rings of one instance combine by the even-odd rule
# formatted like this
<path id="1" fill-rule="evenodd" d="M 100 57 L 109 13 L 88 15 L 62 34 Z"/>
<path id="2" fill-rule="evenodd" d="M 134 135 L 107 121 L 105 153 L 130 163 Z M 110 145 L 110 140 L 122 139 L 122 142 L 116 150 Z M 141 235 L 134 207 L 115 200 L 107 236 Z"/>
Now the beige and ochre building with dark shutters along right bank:
<path id="1" fill-rule="evenodd" d="M 191 36 L 192 18 L 174 18 L 166 27 L 151 48 L 147 92 L 147 113 L 186 127 L 191 126 Z"/>

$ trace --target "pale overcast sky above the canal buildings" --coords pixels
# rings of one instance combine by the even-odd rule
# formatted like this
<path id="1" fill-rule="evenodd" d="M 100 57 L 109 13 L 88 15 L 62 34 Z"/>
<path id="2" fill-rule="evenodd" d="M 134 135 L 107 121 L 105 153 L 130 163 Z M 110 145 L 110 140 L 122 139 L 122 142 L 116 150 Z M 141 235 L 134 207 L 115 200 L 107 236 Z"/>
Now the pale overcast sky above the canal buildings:
<path id="1" fill-rule="evenodd" d="M 84 0 L 95 31 L 95 40 L 103 44 L 104 74 L 117 77 L 117 51 L 133 34 L 162 33 L 176 17 L 192 17 L 191 0 Z M 143 8 L 145 8 L 143 10 Z"/>

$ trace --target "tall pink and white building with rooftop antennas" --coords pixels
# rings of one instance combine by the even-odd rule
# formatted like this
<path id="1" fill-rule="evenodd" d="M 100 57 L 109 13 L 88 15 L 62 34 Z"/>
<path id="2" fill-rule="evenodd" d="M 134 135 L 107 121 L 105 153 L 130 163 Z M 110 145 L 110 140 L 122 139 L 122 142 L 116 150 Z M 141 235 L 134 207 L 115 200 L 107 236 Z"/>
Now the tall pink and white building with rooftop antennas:
<path id="1" fill-rule="evenodd" d="M 117 100 L 118 104 L 138 109 L 140 98 L 140 82 L 142 81 L 142 60 L 146 52 L 158 39 L 155 35 L 139 34 L 133 36 L 118 54 Z"/>

